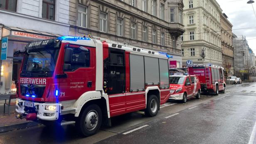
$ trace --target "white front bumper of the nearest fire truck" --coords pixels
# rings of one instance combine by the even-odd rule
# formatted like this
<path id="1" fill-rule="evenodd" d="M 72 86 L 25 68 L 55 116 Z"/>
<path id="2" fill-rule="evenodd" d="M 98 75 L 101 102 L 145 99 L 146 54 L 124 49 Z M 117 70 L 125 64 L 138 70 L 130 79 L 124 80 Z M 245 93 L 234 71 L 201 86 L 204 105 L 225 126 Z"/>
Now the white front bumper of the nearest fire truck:
<path id="1" fill-rule="evenodd" d="M 39 120 L 58 120 L 59 119 L 61 104 L 59 104 L 59 103 L 38 103 L 38 102 L 31 102 L 31 101 L 22 100 L 20 98 L 17 98 L 15 111 L 18 112 L 20 115 L 27 114 L 25 112 L 25 109 L 28 107 L 25 107 L 25 102 L 34 104 L 34 107 L 30 107 L 30 109 L 34 108 L 34 110 L 37 112 L 37 119 L 39 119 Z M 20 103 L 21 105 L 18 105 L 18 103 Z M 54 105 L 54 106 L 56 106 L 56 109 L 55 110 L 45 110 L 46 105 Z"/>

